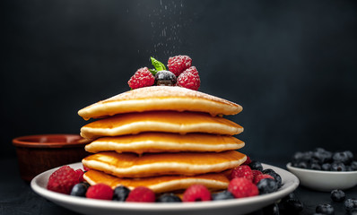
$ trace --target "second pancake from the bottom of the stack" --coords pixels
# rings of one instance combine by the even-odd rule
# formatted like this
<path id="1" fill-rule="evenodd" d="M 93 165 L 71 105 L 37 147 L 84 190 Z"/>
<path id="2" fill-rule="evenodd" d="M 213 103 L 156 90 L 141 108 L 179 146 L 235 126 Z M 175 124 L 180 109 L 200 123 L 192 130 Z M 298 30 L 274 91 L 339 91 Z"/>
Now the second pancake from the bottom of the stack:
<path id="1" fill-rule="evenodd" d="M 236 151 L 135 153 L 99 152 L 82 160 L 86 168 L 96 169 L 118 177 L 145 177 L 162 175 L 194 176 L 222 172 L 239 167 L 247 156 Z"/>

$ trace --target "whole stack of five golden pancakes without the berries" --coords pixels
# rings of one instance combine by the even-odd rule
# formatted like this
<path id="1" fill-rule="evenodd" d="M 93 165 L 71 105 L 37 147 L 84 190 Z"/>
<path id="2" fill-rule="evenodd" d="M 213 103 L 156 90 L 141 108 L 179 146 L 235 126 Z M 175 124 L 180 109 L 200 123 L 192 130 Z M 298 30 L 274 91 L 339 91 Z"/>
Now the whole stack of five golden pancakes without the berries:
<path id="1" fill-rule="evenodd" d="M 202 184 L 227 188 L 228 174 L 246 159 L 244 142 L 233 135 L 240 125 L 223 118 L 242 110 L 238 104 L 196 90 L 152 86 L 129 90 L 84 107 L 78 114 L 96 120 L 81 128 L 91 139 L 83 159 L 91 185 L 130 189 L 147 186 L 155 193 Z"/>

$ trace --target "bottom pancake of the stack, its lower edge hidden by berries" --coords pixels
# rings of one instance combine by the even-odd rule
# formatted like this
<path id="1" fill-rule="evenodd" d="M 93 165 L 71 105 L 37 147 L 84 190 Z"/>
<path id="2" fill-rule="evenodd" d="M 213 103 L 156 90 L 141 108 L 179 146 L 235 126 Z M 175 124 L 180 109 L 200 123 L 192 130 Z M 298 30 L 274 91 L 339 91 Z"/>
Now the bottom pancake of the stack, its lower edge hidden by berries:
<path id="1" fill-rule="evenodd" d="M 154 193 L 165 193 L 184 190 L 190 185 L 205 185 L 210 190 L 226 189 L 230 181 L 223 173 L 211 173 L 198 176 L 152 176 L 143 178 L 120 178 L 110 176 L 103 172 L 90 169 L 84 176 L 90 185 L 106 184 L 113 189 L 118 185 L 124 185 L 129 189 L 137 186 L 146 186 Z"/>

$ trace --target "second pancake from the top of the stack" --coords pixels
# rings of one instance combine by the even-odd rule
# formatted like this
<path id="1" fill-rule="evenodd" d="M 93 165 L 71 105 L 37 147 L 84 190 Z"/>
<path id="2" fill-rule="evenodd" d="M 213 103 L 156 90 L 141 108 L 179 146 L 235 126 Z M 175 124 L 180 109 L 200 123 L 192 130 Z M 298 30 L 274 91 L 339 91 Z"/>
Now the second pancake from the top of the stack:
<path id="1" fill-rule="evenodd" d="M 94 121 L 81 128 L 81 135 L 88 139 L 143 132 L 234 135 L 243 132 L 243 128 L 220 116 L 177 111 L 121 114 Z"/>

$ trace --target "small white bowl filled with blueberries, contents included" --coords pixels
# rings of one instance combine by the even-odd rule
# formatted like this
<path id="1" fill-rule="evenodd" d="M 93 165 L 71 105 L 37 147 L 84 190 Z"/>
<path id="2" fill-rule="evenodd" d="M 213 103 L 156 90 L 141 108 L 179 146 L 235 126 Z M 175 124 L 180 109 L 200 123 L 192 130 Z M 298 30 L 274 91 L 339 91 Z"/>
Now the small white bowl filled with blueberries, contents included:
<path id="1" fill-rule="evenodd" d="M 286 168 L 300 179 L 300 185 L 317 191 L 345 190 L 357 185 L 357 160 L 351 150 L 298 151 Z"/>

